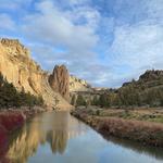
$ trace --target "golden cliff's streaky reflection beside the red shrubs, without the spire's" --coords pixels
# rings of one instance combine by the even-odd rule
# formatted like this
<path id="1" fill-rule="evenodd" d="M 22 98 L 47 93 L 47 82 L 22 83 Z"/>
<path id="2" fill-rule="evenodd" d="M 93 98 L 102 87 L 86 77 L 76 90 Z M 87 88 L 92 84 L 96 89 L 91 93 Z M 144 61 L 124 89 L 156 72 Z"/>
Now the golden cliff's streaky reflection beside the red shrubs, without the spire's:
<path id="1" fill-rule="evenodd" d="M 45 141 L 45 136 L 39 135 L 37 127 L 38 126 L 34 123 L 32 123 L 29 127 L 24 126 L 24 128 L 12 138 L 8 156 L 13 163 L 25 163 L 28 156 L 37 151 L 38 145 Z"/>

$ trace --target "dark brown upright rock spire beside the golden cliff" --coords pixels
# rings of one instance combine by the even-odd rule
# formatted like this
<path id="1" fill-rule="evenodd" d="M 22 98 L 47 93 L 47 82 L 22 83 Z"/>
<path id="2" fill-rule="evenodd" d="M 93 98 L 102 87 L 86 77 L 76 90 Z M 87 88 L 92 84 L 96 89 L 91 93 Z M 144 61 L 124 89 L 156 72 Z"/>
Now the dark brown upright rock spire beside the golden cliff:
<path id="1" fill-rule="evenodd" d="M 55 65 L 49 76 L 49 84 L 54 91 L 60 92 L 67 101 L 70 100 L 70 75 L 64 65 Z"/>

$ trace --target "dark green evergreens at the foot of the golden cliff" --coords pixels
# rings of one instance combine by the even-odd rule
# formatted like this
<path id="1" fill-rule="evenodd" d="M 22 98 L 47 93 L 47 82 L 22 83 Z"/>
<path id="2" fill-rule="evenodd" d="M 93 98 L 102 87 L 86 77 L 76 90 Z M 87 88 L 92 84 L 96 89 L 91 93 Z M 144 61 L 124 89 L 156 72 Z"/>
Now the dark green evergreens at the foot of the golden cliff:
<path id="1" fill-rule="evenodd" d="M 43 105 L 41 96 L 36 97 L 30 92 L 17 91 L 12 83 L 0 73 L 0 109 Z"/>

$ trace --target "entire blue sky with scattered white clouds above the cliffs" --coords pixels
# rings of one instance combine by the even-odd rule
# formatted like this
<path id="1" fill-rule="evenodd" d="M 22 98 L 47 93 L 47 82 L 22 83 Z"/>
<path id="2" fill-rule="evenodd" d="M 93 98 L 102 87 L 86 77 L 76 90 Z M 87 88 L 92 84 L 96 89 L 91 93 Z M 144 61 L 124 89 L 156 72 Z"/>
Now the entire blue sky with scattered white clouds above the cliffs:
<path id="1" fill-rule="evenodd" d="M 0 37 L 96 87 L 163 68 L 163 0 L 0 0 Z"/>

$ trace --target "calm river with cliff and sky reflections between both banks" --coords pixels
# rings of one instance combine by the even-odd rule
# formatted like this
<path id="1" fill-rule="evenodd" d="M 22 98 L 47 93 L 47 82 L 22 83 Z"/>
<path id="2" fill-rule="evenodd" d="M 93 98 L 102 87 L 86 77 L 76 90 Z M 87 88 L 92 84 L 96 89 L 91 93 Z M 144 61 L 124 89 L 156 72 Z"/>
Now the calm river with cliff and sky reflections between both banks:
<path id="1" fill-rule="evenodd" d="M 163 150 L 100 134 L 68 112 L 47 112 L 10 139 L 12 163 L 163 163 Z"/>

